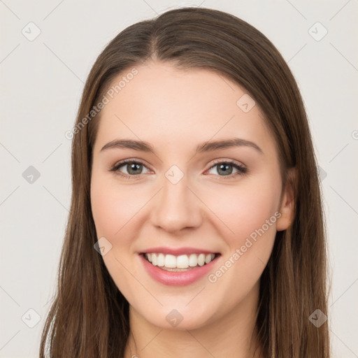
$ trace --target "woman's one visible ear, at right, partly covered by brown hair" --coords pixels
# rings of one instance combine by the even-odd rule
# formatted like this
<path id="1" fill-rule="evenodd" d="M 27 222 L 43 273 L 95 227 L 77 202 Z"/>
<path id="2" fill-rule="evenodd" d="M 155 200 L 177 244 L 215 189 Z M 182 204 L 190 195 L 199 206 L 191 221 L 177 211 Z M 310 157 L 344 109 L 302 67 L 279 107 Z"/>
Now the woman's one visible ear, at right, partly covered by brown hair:
<path id="1" fill-rule="evenodd" d="M 294 208 L 295 208 L 295 182 L 296 182 L 296 170 L 290 168 L 287 173 L 286 187 L 282 193 L 282 199 L 280 203 L 281 216 L 277 220 L 277 231 L 286 230 L 294 221 Z"/>

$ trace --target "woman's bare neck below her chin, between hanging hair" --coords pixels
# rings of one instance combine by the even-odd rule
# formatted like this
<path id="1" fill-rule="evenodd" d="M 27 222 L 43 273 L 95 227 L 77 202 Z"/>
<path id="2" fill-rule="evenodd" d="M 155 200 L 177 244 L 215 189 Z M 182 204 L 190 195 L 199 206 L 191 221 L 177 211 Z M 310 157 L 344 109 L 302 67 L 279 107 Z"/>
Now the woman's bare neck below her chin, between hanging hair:
<path id="1" fill-rule="evenodd" d="M 157 327 L 129 306 L 131 332 L 124 357 L 261 358 L 255 330 L 257 302 L 258 285 L 227 315 L 191 330 Z"/>

